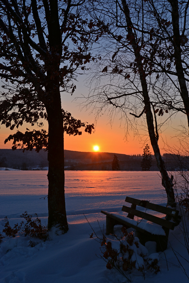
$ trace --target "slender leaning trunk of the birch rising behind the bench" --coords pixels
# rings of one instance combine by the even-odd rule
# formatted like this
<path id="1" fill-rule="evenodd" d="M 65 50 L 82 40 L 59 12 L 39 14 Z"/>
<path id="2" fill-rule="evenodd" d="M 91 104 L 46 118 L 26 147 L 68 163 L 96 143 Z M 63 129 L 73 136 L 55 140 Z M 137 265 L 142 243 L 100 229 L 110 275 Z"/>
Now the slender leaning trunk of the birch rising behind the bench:
<path id="1" fill-rule="evenodd" d="M 141 81 L 141 87 L 142 87 L 142 94 L 143 94 L 143 99 L 144 99 L 144 104 L 145 104 L 145 113 L 146 113 L 146 121 L 147 121 L 147 127 L 148 127 L 148 132 L 149 132 L 149 137 L 151 141 L 151 145 L 153 147 L 154 155 L 156 158 L 157 166 L 158 169 L 160 170 L 161 176 L 162 176 L 162 185 L 164 186 L 167 194 L 167 205 L 170 205 L 171 207 L 175 207 L 175 194 L 173 191 L 173 183 L 171 178 L 169 177 L 167 170 L 165 168 L 164 160 L 162 159 L 162 156 L 160 154 L 160 149 L 158 146 L 158 139 L 156 138 L 155 130 L 154 130 L 154 123 L 153 123 L 153 114 L 151 111 L 151 104 L 150 104 L 150 98 L 148 95 L 148 86 L 146 82 L 146 74 L 145 70 L 143 69 L 143 64 L 142 64 L 142 56 L 140 54 L 140 48 L 136 42 L 135 35 L 132 31 L 132 21 L 130 19 L 130 13 L 129 13 L 129 8 L 126 4 L 125 0 L 122 0 L 122 5 L 123 5 L 123 10 L 127 22 L 127 29 L 128 33 L 132 35 L 132 48 L 134 51 L 134 55 L 136 58 L 137 66 L 138 66 L 138 72 L 139 72 L 139 77 Z"/>

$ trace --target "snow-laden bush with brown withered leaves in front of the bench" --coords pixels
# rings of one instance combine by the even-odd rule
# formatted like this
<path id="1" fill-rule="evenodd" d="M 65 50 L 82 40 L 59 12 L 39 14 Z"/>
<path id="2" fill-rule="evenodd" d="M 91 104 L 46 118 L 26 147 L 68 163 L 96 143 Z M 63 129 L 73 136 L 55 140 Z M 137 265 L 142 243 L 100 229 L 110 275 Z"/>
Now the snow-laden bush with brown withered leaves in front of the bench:
<path id="1" fill-rule="evenodd" d="M 93 238 L 91 234 L 91 238 Z M 147 271 L 158 273 L 160 267 L 158 265 L 159 254 L 153 253 L 148 255 L 148 250 L 141 245 L 139 239 L 135 237 L 134 232 L 127 233 L 123 227 L 121 237 L 109 235 L 106 237 L 94 237 L 101 244 L 100 258 L 106 261 L 108 269 L 115 269 L 121 273 L 127 282 L 131 282 L 129 273 L 139 272 L 145 277 Z"/>

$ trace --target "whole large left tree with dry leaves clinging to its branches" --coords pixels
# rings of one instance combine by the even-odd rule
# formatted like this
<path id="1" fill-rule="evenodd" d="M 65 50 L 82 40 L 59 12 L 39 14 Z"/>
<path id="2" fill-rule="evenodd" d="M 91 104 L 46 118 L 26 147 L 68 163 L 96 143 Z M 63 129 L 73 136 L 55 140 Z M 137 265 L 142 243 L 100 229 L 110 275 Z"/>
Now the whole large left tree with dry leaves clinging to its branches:
<path id="1" fill-rule="evenodd" d="M 68 230 L 64 193 L 64 131 L 81 134 L 85 125 L 61 108 L 61 93 L 75 91 L 76 70 L 85 70 L 91 59 L 95 23 L 83 13 L 85 0 L 0 1 L 0 77 L 3 92 L 0 121 L 10 130 L 23 122 L 46 130 L 18 131 L 17 147 L 48 149 L 48 228 Z"/>

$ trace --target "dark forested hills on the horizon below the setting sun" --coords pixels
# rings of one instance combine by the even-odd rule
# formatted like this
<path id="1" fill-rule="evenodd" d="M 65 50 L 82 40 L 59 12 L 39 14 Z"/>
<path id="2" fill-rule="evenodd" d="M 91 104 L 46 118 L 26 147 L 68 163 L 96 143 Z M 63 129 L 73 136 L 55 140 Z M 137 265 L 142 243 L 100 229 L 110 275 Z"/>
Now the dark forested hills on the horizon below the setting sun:
<path id="1" fill-rule="evenodd" d="M 81 152 L 65 150 L 65 170 L 112 170 L 114 154 L 119 160 L 120 170 L 141 171 L 141 155 L 126 155 L 108 152 Z M 150 171 L 158 171 L 156 160 L 152 155 Z M 168 171 L 189 170 L 189 157 L 171 154 L 163 155 Z M 46 170 L 48 167 L 47 151 L 25 151 L 0 149 L 0 169 L 14 168 L 20 170 Z"/>

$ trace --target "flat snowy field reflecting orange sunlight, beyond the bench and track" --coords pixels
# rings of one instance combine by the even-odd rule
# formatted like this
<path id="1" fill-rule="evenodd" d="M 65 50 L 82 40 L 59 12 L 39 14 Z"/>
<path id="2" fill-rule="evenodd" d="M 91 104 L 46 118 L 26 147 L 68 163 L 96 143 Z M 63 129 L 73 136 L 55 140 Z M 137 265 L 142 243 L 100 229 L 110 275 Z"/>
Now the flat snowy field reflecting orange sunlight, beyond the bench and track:
<path id="1" fill-rule="evenodd" d="M 48 216 L 48 171 L 0 171 L 0 218 Z M 165 205 L 157 171 L 65 171 L 67 215 L 120 211 L 126 196 Z M 107 209 L 108 208 L 108 209 Z"/>

